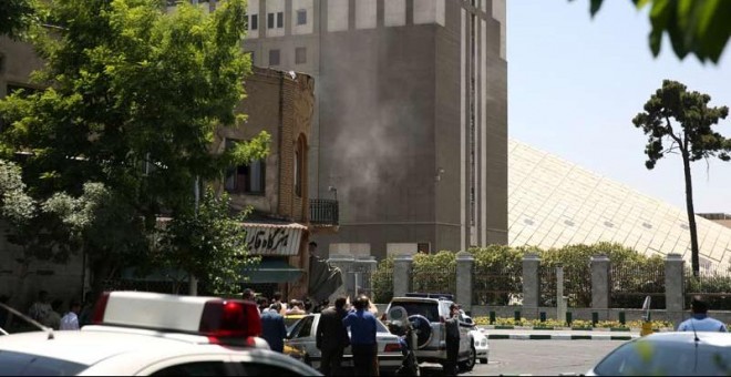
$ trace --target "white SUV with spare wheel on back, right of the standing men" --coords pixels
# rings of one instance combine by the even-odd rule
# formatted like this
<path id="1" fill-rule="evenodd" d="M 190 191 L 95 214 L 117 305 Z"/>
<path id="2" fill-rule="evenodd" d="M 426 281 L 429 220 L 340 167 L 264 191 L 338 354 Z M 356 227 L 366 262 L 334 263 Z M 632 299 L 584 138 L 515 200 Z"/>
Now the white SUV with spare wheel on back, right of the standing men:
<path id="1" fill-rule="evenodd" d="M 403 307 L 412 324 L 416 326 L 418 346 L 415 349 L 419 363 L 446 363 L 446 329 L 444 320 L 450 315 L 453 297 L 445 294 L 409 293 L 403 297 L 393 297 L 383 314 L 385 320 L 389 310 L 394 306 Z M 457 363 L 460 369 L 472 370 L 476 361 L 476 347 L 470 330 L 474 324 L 465 322 L 460 316 L 460 351 Z"/>

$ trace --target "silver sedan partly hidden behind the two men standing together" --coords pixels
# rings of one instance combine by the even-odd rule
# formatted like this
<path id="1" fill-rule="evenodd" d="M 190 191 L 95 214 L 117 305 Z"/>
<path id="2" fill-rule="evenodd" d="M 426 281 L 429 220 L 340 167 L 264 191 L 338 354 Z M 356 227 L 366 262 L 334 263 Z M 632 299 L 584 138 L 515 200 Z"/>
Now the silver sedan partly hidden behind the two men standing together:
<path id="1" fill-rule="evenodd" d="M 302 316 L 288 332 L 285 346 L 289 346 L 303 353 L 306 363 L 315 368 L 320 367 L 320 350 L 316 345 L 317 326 L 320 323 L 320 314 L 308 314 Z M 401 345 L 399 337 L 391 334 L 389 329 L 377 320 L 375 338 L 378 342 L 379 369 L 383 373 L 394 373 L 402 363 Z M 342 366 L 352 367 L 352 351 L 347 347 L 343 353 Z"/>

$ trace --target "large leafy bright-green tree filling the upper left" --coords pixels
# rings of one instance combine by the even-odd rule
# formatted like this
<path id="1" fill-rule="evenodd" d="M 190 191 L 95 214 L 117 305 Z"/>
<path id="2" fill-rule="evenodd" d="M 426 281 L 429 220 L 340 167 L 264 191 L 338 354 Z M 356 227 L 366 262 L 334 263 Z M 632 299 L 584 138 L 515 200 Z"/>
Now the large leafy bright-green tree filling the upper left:
<path id="1" fill-rule="evenodd" d="M 55 27 L 32 29 L 31 41 L 47 62 L 33 80 L 48 89 L 0 101 L 9 124 L 0 156 L 30 152 L 23 179 L 33 197 L 80 197 L 84 183 L 99 183 L 115 203 L 110 213 L 123 216 L 86 225 L 105 224 L 99 230 L 109 235 L 120 226 L 133 232 L 131 218 L 142 218 L 140 240 L 156 231 L 161 213 L 187 211 L 198 177 L 220 179 L 227 166 L 268 153 L 266 133 L 222 153 L 210 149 L 217 128 L 244 120 L 235 113 L 250 72 L 240 48 L 244 0 L 219 2 L 210 14 L 187 3 L 166 13 L 158 0 L 45 6 L 42 21 Z M 94 241 L 78 231 L 91 258 L 125 259 L 109 257 L 124 255 L 125 237 Z"/>

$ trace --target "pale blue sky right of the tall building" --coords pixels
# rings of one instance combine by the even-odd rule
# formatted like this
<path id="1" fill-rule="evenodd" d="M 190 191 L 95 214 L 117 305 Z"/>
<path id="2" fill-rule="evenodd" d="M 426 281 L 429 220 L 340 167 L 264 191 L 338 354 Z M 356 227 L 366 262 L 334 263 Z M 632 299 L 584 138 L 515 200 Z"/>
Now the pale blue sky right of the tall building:
<path id="1" fill-rule="evenodd" d="M 684 210 L 680 155 L 647 170 L 647 136 L 631 120 L 665 79 L 731 106 L 731 43 L 718 64 L 681 61 L 667 39 L 655 58 L 649 31 L 630 0 L 604 1 L 594 19 L 589 0 L 507 0 L 508 134 Z M 731 116 L 714 128 L 731 137 Z M 691 170 L 696 213 L 731 214 L 731 162 Z"/>

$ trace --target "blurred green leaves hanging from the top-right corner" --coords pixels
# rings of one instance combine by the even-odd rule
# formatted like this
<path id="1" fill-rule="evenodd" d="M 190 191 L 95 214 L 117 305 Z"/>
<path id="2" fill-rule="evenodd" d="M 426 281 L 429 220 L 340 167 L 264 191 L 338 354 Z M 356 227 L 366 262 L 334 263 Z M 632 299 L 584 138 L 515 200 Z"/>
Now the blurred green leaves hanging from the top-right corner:
<path id="1" fill-rule="evenodd" d="M 569 0 L 573 1 L 573 0 Z M 631 0 L 637 9 L 649 6 L 652 30 L 650 50 L 660 53 L 662 35 L 667 32 L 672 50 L 680 59 L 694 54 L 701 62 L 718 63 L 731 37 L 731 1 Z M 591 0 L 594 17 L 604 0 Z"/>

